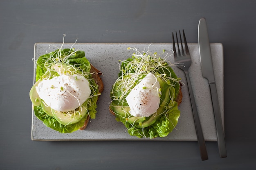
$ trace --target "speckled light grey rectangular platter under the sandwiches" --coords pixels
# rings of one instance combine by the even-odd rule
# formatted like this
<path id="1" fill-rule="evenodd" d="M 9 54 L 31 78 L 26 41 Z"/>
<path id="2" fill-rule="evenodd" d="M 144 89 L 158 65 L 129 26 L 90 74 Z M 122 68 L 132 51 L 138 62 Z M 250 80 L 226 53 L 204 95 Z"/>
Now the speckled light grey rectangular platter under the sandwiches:
<path id="1" fill-rule="evenodd" d="M 40 55 L 46 54 L 60 48 L 62 44 L 55 43 L 36 43 L 34 47 L 34 59 Z M 139 51 L 149 50 L 162 54 L 166 50 L 168 60 L 174 63 L 172 44 L 64 44 L 63 48 L 73 48 L 85 51 L 85 57 L 96 68 L 103 72 L 103 83 L 105 89 L 98 100 L 97 118 L 89 122 L 87 128 L 83 131 L 75 131 L 70 134 L 62 134 L 46 127 L 42 121 L 38 120 L 32 109 L 32 140 L 162 140 L 162 141 L 196 141 L 195 125 L 189 99 L 189 93 L 186 85 L 186 78 L 182 70 L 173 66 L 173 70 L 178 77 L 182 78 L 183 99 L 179 106 L 181 111 L 176 129 L 164 138 L 138 138 L 130 136 L 125 126 L 121 122 L 116 122 L 115 116 L 109 113 L 108 106 L 110 99 L 110 90 L 112 84 L 117 79 L 119 72 L 119 60 L 125 60 L 131 57 L 133 50 L 127 50 L 128 47 L 135 47 Z M 202 130 L 206 141 L 217 141 L 213 108 L 211 104 L 211 94 L 208 82 L 202 77 L 198 44 L 189 44 L 192 65 L 189 73 L 195 100 L 200 114 Z M 220 102 L 220 111 L 224 125 L 224 96 L 223 96 L 223 47 L 222 44 L 211 44 L 211 53 L 213 57 L 213 68 L 216 78 L 218 98 Z M 165 54 L 166 55 L 166 54 Z M 163 57 L 165 56 L 163 55 Z M 34 75 L 35 76 L 35 75 Z"/>

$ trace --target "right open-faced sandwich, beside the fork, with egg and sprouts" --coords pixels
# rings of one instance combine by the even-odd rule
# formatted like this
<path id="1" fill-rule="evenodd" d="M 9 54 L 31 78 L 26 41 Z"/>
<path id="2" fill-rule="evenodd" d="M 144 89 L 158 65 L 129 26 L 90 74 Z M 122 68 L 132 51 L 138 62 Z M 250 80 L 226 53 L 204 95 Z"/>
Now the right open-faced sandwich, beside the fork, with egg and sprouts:
<path id="1" fill-rule="evenodd" d="M 132 136 L 166 137 L 176 126 L 182 102 L 180 78 L 157 53 L 139 52 L 121 61 L 110 92 L 110 112 Z"/>

